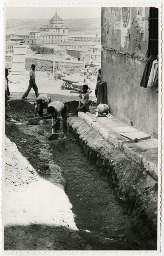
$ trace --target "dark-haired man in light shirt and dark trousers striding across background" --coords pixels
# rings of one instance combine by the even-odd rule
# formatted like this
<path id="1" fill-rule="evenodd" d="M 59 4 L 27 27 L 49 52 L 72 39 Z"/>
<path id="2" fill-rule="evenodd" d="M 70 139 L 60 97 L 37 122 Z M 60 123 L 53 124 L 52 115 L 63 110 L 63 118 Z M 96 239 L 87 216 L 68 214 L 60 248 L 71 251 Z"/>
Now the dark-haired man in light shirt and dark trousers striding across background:
<path id="1" fill-rule="evenodd" d="M 31 69 L 32 70 L 30 70 L 29 86 L 26 92 L 24 93 L 22 99 L 27 99 L 26 97 L 28 96 L 28 93 L 30 92 L 31 88 L 34 89 L 36 98 L 39 96 L 37 84 L 35 83 L 35 65 L 34 64 L 31 65 Z"/>

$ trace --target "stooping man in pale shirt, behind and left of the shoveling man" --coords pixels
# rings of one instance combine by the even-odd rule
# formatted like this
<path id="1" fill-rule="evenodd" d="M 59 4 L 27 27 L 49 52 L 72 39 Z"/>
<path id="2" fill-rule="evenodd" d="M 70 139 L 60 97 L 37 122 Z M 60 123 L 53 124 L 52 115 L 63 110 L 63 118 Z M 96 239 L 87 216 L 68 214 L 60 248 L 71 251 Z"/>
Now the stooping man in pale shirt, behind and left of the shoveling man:
<path id="1" fill-rule="evenodd" d="M 51 98 L 47 94 L 40 94 L 36 98 L 35 102 L 35 111 L 34 111 L 34 117 L 37 116 L 37 113 L 39 114 L 40 117 L 43 116 L 43 109 L 48 108 L 48 104 L 51 103 Z"/>

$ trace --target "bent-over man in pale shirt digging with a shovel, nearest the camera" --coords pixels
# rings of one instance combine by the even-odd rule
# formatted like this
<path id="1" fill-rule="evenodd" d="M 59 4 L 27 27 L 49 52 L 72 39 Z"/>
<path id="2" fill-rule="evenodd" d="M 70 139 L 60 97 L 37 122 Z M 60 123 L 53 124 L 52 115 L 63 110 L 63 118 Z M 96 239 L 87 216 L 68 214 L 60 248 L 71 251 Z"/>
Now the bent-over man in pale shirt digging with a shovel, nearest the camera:
<path id="1" fill-rule="evenodd" d="M 57 133 L 60 128 L 60 119 L 62 118 L 64 139 L 67 139 L 68 106 L 65 103 L 59 101 L 51 102 L 50 104 L 48 104 L 47 112 L 55 119 L 54 125 L 52 125 L 55 133 Z"/>

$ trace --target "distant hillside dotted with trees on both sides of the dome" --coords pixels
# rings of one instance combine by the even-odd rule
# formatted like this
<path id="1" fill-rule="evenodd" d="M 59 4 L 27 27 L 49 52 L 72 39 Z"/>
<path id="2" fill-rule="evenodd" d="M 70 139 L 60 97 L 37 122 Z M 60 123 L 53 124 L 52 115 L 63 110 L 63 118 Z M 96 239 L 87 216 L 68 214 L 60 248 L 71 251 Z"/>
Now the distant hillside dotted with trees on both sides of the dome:
<path id="1" fill-rule="evenodd" d="M 6 19 L 6 34 L 25 33 L 39 30 L 41 26 L 49 23 L 46 19 Z M 101 32 L 101 18 L 89 19 L 67 19 L 65 24 L 68 27 L 68 33 L 99 34 Z"/>

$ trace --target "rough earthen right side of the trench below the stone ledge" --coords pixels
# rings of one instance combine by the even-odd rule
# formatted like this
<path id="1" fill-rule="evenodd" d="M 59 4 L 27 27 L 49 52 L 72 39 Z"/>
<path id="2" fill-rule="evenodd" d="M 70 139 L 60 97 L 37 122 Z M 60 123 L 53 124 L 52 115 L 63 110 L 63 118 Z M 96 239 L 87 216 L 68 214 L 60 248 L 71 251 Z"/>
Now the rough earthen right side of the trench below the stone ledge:
<path id="1" fill-rule="evenodd" d="M 133 215 L 134 228 L 143 239 L 157 233 L 157 182 L 144 175 L 136 163 L 107 143 L 78 117 L 68 118 L 69 130 L 76 136 L 89 160 L 99 166 L 112 186 L 124 214 Z M 110 214 L 110 213 L 109 213 Z"/>

